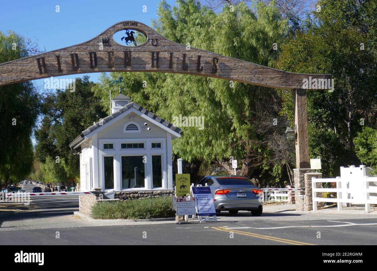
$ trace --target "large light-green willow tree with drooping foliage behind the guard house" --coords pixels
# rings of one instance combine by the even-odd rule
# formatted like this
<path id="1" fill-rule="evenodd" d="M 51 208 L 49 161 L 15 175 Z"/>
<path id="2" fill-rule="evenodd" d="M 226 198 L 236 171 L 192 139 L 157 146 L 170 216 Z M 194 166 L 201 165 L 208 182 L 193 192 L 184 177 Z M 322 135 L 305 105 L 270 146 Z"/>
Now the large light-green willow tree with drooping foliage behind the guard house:
<path id="1" fill-rule="evenodd" d="M 185 44 L 188 50 L 196 47 L 265 66 L 273 66 L 278 54 L 274 43 L 279 49 L 287 29 L 274 2 L 269 6 L 257 2 L 252 8 L 244 3 L 224 6 L 215 13 L 193 0 L 178 0 L 173 7 L 162 1 L 158 16 L 152 27 L 169 40 Z M 111 78 L 120 76 L 126 83 L 124 94 L 162 118 L 170 122 L 180 115 L 204 118 L 204 129 L 181 127 L 184 135 L 173 141 L 173 152 L 182 159 L 199 164 L 216 162 L 233 172 L 229 164 L 233 156 L 241 166 L 239 174 L 250 177 L 254 168 L 263 164 L 264 135 L 257 133 L 252 119 L 256 101 L 273 95 L 273 90 L 191 75 L 110 73 Z M 102 83 L 95 87 L 107 108 L 107 81 L 111 78 L 103 75 Z M 117 94 L 115 88 L 113 94 Z M 273 118 L 268 121 L 272 126 Z"/>

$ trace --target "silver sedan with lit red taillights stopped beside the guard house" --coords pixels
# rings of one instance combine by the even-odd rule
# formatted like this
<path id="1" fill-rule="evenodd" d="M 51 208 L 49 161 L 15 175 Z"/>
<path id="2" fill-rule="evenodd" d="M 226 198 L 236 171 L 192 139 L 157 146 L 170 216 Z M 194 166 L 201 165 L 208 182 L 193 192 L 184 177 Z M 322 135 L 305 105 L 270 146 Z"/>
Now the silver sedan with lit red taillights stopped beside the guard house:
<path id="1" fill-rule="evenodd" d="M 216 212 L 251 211 L 253 216 L 263 212 L 263 191 L 246 177 L 237 175 L 206 176 L 199 185 L 207 184 L 211 189 Z"/>

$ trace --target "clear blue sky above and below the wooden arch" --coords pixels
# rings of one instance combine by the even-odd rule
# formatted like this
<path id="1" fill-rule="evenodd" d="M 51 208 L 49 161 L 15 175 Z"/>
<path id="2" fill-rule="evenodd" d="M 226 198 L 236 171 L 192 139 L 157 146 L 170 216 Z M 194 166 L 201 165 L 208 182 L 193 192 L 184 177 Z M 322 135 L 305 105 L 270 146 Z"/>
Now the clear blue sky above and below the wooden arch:
<path id="1" fill-rule="evenodd" d="M 159 0 L 0 1 L 0 31 L 13 30 L 32 41 L 37 39 L 46 52 L 90 40 L 119 21 L 134 20 L 150 26 L 150 20 L 157 18 L 159 3 Z M 166 2 L 175 5 L 175 0 Z M 60 12 L 55 11 L 56 5 L 60 6 Z M 143 12 L 143 5 L 147 6 L 147 12 Z M 88 75 L 96 82 L 100 73 Z M 42 87 L 43 79 L 34 83 Z"/>

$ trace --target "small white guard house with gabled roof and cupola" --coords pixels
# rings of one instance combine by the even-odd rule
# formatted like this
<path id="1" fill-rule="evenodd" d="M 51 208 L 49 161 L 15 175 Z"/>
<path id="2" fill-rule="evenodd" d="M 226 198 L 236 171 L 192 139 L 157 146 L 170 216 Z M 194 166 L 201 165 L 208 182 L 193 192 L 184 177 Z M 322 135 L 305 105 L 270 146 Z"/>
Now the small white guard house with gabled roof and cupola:
<path id="1" fill-rule="evenodd" d="M 80 190 L 172 190 L 172 139 L 182 130 L 119 94 L 111 115 L 69 144 L 80 154 Z"/>

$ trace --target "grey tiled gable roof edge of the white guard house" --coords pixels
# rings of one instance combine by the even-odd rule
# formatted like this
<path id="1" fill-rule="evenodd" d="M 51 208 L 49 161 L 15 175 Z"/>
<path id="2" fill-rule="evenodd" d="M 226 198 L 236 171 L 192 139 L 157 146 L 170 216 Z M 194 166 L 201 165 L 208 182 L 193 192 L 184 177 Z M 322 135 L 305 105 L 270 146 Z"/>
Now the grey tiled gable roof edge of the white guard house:
<path id="1" fill-rule="evenodd" d="M 107 122 L 111 121 L 112 119 L 116 118 L 118 115 L 123 114 L 124 112 L 126 112 L 127 110 L 129 110 L 131 108 L 135 108 L 136 110 L 139 110 L 144 115 L 146 115 L 149 118 L 161 123 L 162 125 L 166 126 L 170 130 L 172 130 L 173 132 L 176 132 L 179 135 L 183 134 L 181 129 L 174 126 L 169 121 L 166 121 L 166 120 L 160 118 L 159 116 L 155 115 L 154 113 L 152 113 L 152 112 L 148 111 L 147 109 L 139 106 L 138 104 L 132 102 L 132 103 L 129 103 L 126 106 L 120 108 L 118 111 L 112 113 L 111 115 L 107 116 L 106 118 L 103 118 L 103 124 L 102 125 L 100 125 L 100 121 L 98 121 L 95 124 L 93 124 L 92 126 L 90 126 L 89 128 L 87 128 L 86 130 L 84 130 L 83 132 L 81 132 L 81 134 L 79 136 L 77 136 L 77 138 L 75 138 L 74 141 L 70 142 L 69 147 L 72 149 L 75 145 L 80 144 L 82 141 L 85 140 L 85 136 L 87 134 L 89 134 L 89 133 L 93 132 L 94 130 L 100 128 L 101 126 L 103 126 Z"/>

